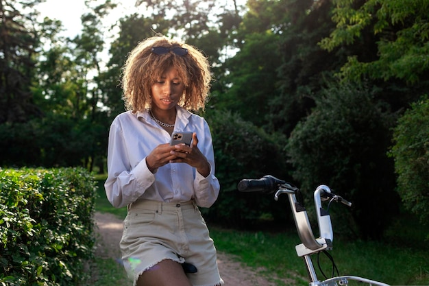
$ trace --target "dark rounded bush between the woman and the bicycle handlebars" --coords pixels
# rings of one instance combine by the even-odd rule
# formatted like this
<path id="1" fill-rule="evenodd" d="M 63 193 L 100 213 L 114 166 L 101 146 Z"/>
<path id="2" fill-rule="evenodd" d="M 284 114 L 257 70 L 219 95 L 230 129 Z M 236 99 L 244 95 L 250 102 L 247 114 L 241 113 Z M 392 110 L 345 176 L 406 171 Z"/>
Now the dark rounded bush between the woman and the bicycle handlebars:
<path id="1" fill-rule="evenodd" d="M 204 210 L 207 219 L 226 226 L 249 228 L 260 219 L 286 219 L 284 204 L 273 195 L 240 193 L 243 178 L 271 174 L 287 180 L 286 160 L 282 154 L 285 139 L 269 135 L 231 112 L 210 110 L 206 115 L 215 149 L 216 176 L 221 184 L 217 202 Z"/>

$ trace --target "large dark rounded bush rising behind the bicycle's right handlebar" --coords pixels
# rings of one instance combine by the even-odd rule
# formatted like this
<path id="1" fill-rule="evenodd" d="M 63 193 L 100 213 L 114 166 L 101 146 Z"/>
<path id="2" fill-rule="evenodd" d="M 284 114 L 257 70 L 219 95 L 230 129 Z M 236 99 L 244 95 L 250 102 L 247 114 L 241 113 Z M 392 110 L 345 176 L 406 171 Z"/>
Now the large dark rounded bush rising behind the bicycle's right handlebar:
<path id="1" fill-rule="evenodd" d="M 337 224 L 372 239 L 382 237 L 398 205 L 387 157 L 394 117 L 376 94 L 354 84 L 327 88 L 286 146 L 307 197 L 319 184 L 335 189 L 353 202 L 352 217 L 341 212 Z"/>

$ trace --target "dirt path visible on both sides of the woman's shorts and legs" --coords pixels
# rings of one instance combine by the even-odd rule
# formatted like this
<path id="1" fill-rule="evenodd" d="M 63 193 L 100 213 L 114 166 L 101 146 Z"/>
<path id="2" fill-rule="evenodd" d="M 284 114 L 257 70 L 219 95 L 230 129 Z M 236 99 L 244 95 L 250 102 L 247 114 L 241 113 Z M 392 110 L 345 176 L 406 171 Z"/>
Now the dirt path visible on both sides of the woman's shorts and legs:
<path id="1" fill-rule="evenodd" d="M 120 257 L 119 241 L 122 236 L 122 221 L 110 213 L 95 213 L 95 222 L 97 224 L 96 231 L 99 233 L 100 239 L 103 240 L 97 244 L 103 246 L 104 250 L 110 250 L 102 253 L 97 251 L 97 255 L 118 260 Z M 234 258 L 229 254 L 218 252 L 217 257 L 219 272 L 225 281 L 224 286 L 275 286 L 275 283 L 258 276 L 252 268 L 234 261 Z M 291 281 L 284 281 L 284 285 L 292 284 Z"/>

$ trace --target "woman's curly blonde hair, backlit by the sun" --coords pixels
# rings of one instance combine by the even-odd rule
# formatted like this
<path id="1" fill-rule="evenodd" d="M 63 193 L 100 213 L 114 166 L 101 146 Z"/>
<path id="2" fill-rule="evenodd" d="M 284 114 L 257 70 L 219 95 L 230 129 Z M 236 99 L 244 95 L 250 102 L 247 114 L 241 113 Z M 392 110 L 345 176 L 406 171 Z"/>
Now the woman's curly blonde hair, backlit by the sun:
<path id="1" fill-rule="evenodd" d="M 188 53 L 178 56 L 169 51 L 158 55 L 152 47 L 183 47 Z M 179 105 L 187 110 L 204 110 L 212 79 L 207 58 L 195 47 L 165 36 L 147 38 L 127 56 L 122 71 L 125 108 L 133 112 L 150 108 L 151 86 L 170 67 L 177 69 L 185 86 Z"/>

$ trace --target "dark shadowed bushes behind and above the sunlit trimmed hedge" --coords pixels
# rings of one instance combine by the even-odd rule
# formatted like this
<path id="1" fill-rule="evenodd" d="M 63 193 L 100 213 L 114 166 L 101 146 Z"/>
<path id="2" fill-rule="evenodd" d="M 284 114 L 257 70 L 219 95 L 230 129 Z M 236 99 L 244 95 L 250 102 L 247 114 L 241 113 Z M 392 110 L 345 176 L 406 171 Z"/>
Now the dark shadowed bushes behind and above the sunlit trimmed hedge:
<path id="1" fill-rule="evenodd" d="M 26 123 L 0 124 L 0 154 L 3 165 L 12 167 L 97 165 L 106 169 L 100 153 L 107 148 L 108 119 L 79 124 L 60 115 L 34 118 Z"/>

